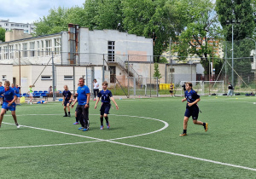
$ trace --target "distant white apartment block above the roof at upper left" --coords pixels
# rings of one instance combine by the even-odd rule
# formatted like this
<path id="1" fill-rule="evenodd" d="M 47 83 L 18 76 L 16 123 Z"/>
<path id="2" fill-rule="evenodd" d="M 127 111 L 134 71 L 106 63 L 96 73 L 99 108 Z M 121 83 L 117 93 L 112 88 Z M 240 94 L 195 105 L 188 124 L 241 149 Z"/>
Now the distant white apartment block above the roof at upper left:
<path id="1" fill-rule="evenodd" d="M 35 32 L 36 26 L 29 23 L 17 23 L 10 22 L 9 20 L 0 20 L 0 27 L 3 27 L 5 31 L 11 31 L 12 29 L 23 29 L 24 33 L 32 34 Z"/>

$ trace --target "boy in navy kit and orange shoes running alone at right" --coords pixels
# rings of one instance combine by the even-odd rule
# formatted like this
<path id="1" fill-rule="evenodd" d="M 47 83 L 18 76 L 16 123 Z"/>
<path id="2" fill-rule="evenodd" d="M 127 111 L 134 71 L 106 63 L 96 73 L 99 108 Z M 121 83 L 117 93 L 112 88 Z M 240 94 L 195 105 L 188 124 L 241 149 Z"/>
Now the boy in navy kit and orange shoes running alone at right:
<path id="1" fill-rule="evenodd" d="M 188 126 L 188 121 L 190 116 L 192 116 L 194 124 L 203 125 L 205 128 L 205 131 L 207 132 L 208 124 L 197 120 L 198 113 L 199 113 L 199 107 L 197 105 L 197 102 L 200 101 L 200 95 L 197 95 L 195 90 L 192 89 L 191 83 L 186 83 L 185 85 L 186 85 L 185 98 L 183 98 L 182 101 L 188 101 L 188 103 L 186 106 L 186 112 L 183 120 L 183 134 L 179 136 L 187 136 L 187 126 Z"/>

